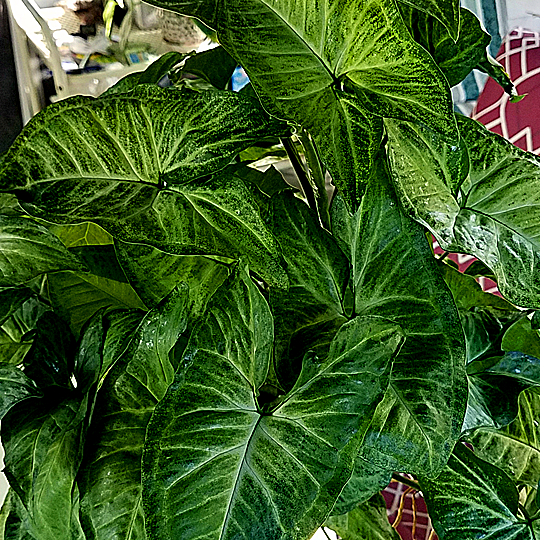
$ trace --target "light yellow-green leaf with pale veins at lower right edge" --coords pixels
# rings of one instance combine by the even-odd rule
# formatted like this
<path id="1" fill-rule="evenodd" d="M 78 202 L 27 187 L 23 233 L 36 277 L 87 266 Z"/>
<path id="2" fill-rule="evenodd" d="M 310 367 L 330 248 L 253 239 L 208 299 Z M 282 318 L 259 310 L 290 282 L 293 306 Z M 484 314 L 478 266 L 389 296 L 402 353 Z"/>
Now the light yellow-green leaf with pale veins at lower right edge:
<path id="1" fill-rule="evenodd" d="M 537 487 L 540 479 L 540 395 L 537 389 L 519 397 L 516 419 L 502 429 L 477 430 L 468 441 L 475 453 L 501 468 L 514 481 Z"/>

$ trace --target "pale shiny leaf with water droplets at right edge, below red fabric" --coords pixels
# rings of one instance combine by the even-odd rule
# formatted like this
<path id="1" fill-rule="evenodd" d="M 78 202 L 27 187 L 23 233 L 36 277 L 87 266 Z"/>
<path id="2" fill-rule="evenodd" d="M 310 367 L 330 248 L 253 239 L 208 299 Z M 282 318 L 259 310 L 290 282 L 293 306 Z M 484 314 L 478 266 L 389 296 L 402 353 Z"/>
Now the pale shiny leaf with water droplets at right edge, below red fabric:
<path id="1" fill-rule="evenodd" d="M 539 306 L 538 158 L 478 122 L 459 116 L 471 166 L 459 199 L 455 199 L 442 176 L 435 176 L 433 170 L 425 174 L 422 161 L 417 159 L 430 149 L 416 139 L 416 151 L 411 152 L 408 131 L 394 125 L 392 173 L 409 213 L 429 227 L 444 249 L 469 253 L 484 262 L 511 302 Z"/>

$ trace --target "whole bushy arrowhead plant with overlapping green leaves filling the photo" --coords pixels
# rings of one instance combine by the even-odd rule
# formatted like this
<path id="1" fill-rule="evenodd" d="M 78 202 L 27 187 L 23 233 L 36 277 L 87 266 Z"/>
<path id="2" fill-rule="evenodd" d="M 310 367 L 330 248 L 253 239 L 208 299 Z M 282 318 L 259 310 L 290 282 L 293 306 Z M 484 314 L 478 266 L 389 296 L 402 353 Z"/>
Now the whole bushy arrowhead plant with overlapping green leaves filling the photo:
<path id="1" fill-rule="evenodd" d="M 3 538 L 392 538 L 402 473 L 440 538 L 536 538 L 540 161 L 449 91 L 514 92 L 489 36 L 454 0 L 156 3 L 221 46 L 0 162 Z"/>

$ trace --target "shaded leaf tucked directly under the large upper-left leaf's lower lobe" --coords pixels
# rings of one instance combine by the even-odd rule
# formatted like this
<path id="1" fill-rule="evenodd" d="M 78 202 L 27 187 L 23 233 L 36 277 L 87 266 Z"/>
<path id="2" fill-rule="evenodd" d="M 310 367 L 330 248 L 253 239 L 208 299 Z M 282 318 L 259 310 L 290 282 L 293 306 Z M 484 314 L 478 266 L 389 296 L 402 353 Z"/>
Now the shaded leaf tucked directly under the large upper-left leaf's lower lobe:
<path id="1" fill-rule="evenodd" d="M 116 241 L 115 249 L 130 284 L 148 306 L 155 306 L 180 282 L 190 287 L 190 311 L 202 314 L 229 270 L 200 255 L 171 255 L 142 244 Z"/>

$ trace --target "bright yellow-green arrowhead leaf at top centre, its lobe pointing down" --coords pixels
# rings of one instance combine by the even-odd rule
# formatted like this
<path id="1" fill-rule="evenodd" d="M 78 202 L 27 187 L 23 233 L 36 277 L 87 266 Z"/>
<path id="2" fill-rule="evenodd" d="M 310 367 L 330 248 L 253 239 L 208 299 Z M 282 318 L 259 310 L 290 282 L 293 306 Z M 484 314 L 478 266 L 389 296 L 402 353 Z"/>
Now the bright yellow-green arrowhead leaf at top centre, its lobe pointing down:
<path id="1" fill-rule="evenodd" d="M 353 207 L 381 136 L 373 112 L 457 136 L 446 80 L 411 38 L 393 0 L 152 3 L 217 30 L 267 110 L 310 131 Z"/>

